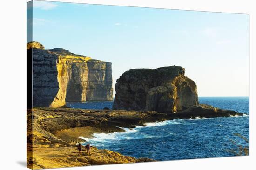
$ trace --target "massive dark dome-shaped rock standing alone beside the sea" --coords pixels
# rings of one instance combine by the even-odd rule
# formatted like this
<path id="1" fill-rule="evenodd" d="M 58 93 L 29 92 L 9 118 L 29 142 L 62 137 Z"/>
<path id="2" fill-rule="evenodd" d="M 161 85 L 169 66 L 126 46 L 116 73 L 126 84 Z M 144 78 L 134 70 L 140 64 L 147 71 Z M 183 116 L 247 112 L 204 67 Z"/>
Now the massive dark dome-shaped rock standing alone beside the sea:
<path id="1" fill-rule="evenodd" d="M 173 113 L 198 104 L 196 84 L 177 66 L 131 69 L 115 85 L 115 110 Z"/>

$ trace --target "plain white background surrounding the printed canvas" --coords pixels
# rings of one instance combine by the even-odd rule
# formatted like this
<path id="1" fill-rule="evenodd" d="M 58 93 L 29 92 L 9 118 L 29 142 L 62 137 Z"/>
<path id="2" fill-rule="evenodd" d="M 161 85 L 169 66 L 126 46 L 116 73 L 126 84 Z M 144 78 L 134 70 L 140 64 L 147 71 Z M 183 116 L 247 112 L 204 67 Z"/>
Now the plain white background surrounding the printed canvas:
<path id="1" fill-rule="evenodd" d="M 256 13 L 253 0 L 56 0 L 90 4 L 141 6 L 196 11 L 250 14 L 250 156 L 164 161 L 155 163 L 101 165 L 77 167 L 72 170 L 131 170 L 131 169 L 250 169 L 255 156 L 255 27 Z M 26 169 L 26 2 L 1 2 L 1 169 Z M 10 147 L 10 145 L 12 145 Z M 67 170 L 67 168 L 58 169 Z"/>

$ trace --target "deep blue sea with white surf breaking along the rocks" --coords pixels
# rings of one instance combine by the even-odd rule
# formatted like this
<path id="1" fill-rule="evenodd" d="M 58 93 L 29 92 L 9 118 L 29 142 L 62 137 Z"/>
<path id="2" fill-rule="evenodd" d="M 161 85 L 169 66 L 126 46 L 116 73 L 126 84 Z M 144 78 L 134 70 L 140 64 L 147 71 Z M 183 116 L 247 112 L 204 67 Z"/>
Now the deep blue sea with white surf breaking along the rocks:
<path id="1" fill-rule="evenodd" d="M 199 97 L 199 103 L 245 114 L 149 122 L 146 126 L 124 128 L 125 132 L 94 133 L 93 138 L 83 139 L 99 149 L 158 161 L 229 157 L 236 155 L 234 151 L 239 145 L 249 147 L 249 97 Z M 104 101 L 67 103 L 67 106 L 103 109 L 112 108 L 112 104 L 112 101 Z"/>

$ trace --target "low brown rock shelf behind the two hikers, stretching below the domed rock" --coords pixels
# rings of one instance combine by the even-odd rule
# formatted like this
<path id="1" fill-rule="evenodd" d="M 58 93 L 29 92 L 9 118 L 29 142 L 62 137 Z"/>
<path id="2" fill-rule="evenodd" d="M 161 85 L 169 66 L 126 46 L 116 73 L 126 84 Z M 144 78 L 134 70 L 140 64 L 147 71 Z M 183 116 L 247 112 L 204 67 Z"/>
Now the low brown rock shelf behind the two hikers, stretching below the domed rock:
<path id="1" fill-rule="evenodd" d="M 147 122 L 230 116 L 243 116 L 243 113 L 205 104 L 189 107 L 179 113 L 35 107 L 33 111 L 27 111 L 27 141 L 48 147 L 56 143 L 70 146 L 82 141 L 80 136 L 90 138 L 93 133 L 124 132 L 121 127 L 145 126 Z"/>

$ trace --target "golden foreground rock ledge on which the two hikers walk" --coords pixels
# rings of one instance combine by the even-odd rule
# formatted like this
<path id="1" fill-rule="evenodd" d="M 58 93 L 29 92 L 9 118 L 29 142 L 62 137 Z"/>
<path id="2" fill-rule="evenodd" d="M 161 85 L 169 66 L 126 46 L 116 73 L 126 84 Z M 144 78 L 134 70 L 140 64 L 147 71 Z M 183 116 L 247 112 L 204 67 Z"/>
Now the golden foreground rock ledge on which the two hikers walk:
<path id="1" fill-rule="evenodd" d="M 56 145 L 58 146 L 58 145 Z M 86 153 L 86 149 L 82 148 L 81 156 L 78 156 L 77 147 L 55 147 L 55 148 L 29 148 L 27 153 L 31 153 L 27 157 L 27 168 L 52 169 L 80 167 L 103 164 L 129 164 L 138 162 L 152 162 L 149 158 L 135 158 L 122 155 L 115 151 L 106 149 L 90 148 L 91 155 Z"/>

